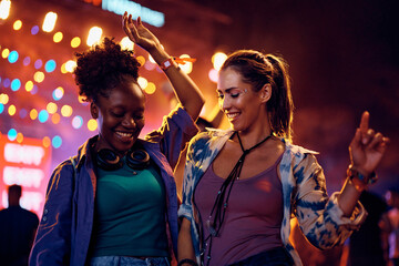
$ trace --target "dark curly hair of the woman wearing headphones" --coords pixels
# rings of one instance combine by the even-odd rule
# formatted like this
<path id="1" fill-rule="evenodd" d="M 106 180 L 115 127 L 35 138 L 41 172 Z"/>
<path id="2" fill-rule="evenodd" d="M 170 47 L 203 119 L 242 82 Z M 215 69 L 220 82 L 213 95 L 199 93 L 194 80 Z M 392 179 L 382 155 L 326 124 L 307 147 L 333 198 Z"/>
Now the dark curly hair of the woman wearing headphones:
<path id="1" fill-rule="evenodd" d="M 75 53 L 74 79 L 83 101 L 96 102 L 99 95 L 108 98 L 110 91 L 126 79 L 137 81 L 140 63 L 134 52 L 122 50 L 113 39 L 104 38 L 101 44 Z"/>

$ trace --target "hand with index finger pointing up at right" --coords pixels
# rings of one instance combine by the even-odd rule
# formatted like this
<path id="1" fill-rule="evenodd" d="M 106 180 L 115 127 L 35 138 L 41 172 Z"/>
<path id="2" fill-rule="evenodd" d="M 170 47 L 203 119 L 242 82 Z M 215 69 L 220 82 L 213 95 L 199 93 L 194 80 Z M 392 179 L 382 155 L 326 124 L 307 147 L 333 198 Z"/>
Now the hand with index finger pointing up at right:
<path id="1" fill-rule="evenodd" d="M 377 168 L 389 143 L 388 137 L 369 129 L 369 112 L 365 111 L 361 115 L 360 125 L 349 145 L 349 155 L 354 168 L 366 176 Z"/>

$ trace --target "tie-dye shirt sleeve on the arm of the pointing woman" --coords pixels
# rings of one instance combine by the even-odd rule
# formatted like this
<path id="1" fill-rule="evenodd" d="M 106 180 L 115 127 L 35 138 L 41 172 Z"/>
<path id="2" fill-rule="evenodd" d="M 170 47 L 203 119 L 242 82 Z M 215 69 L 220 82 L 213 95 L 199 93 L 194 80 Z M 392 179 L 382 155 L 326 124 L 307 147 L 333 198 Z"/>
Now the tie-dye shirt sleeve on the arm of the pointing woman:
<path id="1" fill-rule="evenodd" d="M 320 249 L 344 244 L 365 221 L 364 206 L 358 202 L 352 215 L 344 216 L 337 201 L 339 193 L 328 197 L 323 168 L 313 154 L 306 154 L 294 175 L 298 184 L 295 214 L 306 238 Z"/>

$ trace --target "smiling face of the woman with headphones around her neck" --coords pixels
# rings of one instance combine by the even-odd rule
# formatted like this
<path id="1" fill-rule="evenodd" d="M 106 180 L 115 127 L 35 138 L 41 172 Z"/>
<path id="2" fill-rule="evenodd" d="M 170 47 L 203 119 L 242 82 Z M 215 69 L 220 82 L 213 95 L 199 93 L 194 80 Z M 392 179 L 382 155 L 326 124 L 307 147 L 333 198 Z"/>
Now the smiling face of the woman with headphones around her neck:
<path id="1" fill-rule="evenodd" d="M 99 123 L 99 147 L 124 155 L 144 126 L 145 98 L 137 83 L 126 80 L 112 89 L 110 95 L 91 103 L 91 114 Z"/>

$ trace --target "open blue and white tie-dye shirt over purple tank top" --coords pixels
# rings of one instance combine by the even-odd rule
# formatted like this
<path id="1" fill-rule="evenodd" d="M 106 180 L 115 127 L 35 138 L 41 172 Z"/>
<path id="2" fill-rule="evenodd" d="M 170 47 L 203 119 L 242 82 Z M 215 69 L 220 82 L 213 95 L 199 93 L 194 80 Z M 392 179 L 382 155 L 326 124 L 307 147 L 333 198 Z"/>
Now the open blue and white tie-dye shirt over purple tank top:
<path id="1" fill-rule="evenodd" d="M 188 145 L 183 181 L 183 203 L 178 216 L 191 221 L 191 235 L 198 264 L 202 263 L 204 238 L 194 193 L 201 177 L 212 164 L 233 131 L 209 130 L 195 136 Z M 351 217 L 344 217 L 338 206 L 338 193 L 328 197 L 326 180 L 316 152 L 293 145 L 282 139 L 285 152 L 278 165 L 283 185 L 284 217 L 280 228 L 283 245 L 295 265 L 303 265 L 297 252 L 289 243 L 290 218 L 295 215 L 307 239 L 320 249 L 344 244 L 354 229 L 366 218 L 367 212 L 357 203 Z"/>

